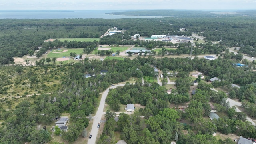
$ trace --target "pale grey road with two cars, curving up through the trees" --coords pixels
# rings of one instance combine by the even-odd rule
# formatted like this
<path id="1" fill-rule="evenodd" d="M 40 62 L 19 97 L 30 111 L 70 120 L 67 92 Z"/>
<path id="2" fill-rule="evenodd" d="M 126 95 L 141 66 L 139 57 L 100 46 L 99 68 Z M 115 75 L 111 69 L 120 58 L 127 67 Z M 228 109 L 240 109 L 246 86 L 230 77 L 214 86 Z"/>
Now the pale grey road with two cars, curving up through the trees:
<path id="1" fill-rule="evenodd" d="M 118 85 L 115 85 L 115 86 L 111 86 L 110 88 L 113 89 L 113 88 L 116 88 L 117 86 L 124 86 L 124 85 L 125 84 L 118 84 Z M 105 101 L 106 101 L 106 98 L 107 98 L 107 95 L 108 95 L 108 92 L 109 92 L 110 88 L 105 90 L 104 93 L 102 94 L 99 108 L 98 108 L 95 116 L 93 117 L 94 120 L 93 120 L 93 124 L 92 124 L 92 130 L 91 130 L 91 133 L 90 133 L 92 135 L 92 138 L 88 140 L 88 144 L 95 144 L 96 143 L 96 138 L 97 138 L 97 134 L 98 134 L 98 128 L 97 128 L 98 122 L 100 122 L 102 114 L 104 114 L 103 109 L 104 109 Z M 88 135 L 90 135 L 90 134 L 88 134 Z"/>

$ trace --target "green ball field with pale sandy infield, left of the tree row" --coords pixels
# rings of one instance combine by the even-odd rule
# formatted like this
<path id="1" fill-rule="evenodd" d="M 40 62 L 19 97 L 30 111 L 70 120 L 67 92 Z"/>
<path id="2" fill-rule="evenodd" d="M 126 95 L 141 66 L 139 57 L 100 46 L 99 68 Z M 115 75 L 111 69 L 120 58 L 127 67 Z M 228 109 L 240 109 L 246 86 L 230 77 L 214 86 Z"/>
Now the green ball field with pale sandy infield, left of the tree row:
<path id="1" fill-rule="evenodd" d="M 57 52 L 57 53 L 55 53 L 55 52 Z M 81 53 L 83 53 L 83 48 L 69 48 L 69 49 L 52 50 L 49 52 L 49 54 L 47 54 L 46 58 L 54 58 L 54 57 L 62 58 L 63 56 L 70 57 L 71 52 L 75 52 L 76 54 L 81 54 Z"/>

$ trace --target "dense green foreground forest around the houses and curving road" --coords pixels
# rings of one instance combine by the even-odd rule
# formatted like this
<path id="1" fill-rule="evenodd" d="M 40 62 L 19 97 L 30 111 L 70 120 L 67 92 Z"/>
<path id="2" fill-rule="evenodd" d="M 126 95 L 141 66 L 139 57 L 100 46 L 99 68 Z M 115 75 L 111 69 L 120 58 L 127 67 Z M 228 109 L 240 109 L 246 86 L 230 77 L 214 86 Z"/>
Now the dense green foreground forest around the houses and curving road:
<path id="1" fill-rule="evenodd" d="M 150 141 L 152 140 L 156 143 L 167 143 L 178 137 L 178 142 L 181 144 L 188 142 L 190 139 L 198 140 L 195 141 L 195 144 L 205 141 L 219 144 L 222 143 L 221 140 L 217 141 L 216 138 L 211 136 L 212 132 L 216 132 L 216 130 L 223 134 L 236 133 L 245 137 L 255 137 L 256 130 L 246 121 L 246 115 L 243 112 L 236 113 L 234 108 L 228 106 L 228 103 L 226 103 L 227 95 L 221 91 L 210 90 L 213 87 L 227 88 L 230 90 L 230 98 L 238 98 L 245 102 L 243 106 L 246 110 L 251 108 L 255 110 L 256 86 L 254 82 L 256 81 L 256 72 L 234 67 L 232 65 L 233 62 L 234 60 L 227 58 L 207 61 L 198 58 L 192 60 L 190 58 L 156 59 L 153 56 L 148 56 L 147 58 L 138 56 L 133 60 L 126 58 L 124 60 L 88 61 L 88 59 L 85 59 L 80 63 L 62 66 L 50 64 L 28 67 L 2 66 L 1 70 L 3 71 L 12 68 L 17 69 L 15 72 L 12 71 L 12 77 L 20 79 L 16 86 L 27 85 L 30 86 L 30 89 L 37 88 L 40 93 L 46 93 L 48 89 L 53 87 L 53 94 L 34 95 L 28 98 L 4 98 L 7 95 L 17 95 L 17 93 L 10 91 L 12 87 L 6 87 L 16 80 L 13 81 L 12 77 L 5 77 L 5 80 L 9 80 L 9 82 L 1 86 L 2 97 L 4 98 L 1 106 L 1 119 L 4 121 L 0 128 L 0 141 L 6 144 L 20 144 L 26 141 L 31 143 L 48 142 L 50 140 L 49 132 L 42 129 L 37 130 L 37 124 L 51 124 L 56 116 L 60 116 L 63 112 L 68 112 L 72 123 L 68 132 L 62 132 L 62 138 L 63 140 L 74 142 L 82 134 L 84 128 L 88 126 L 88 118 L 86 116 L 95 112 L 100 92 L 108 88 L 110 84 L 126 82 L 130 77 L 142 78 L 142 76 L 150 76 L 151 73 L 148 72 L 152 71 L 152 65 L 156 65 L 163 71 L 179 72 L 176 76 L 176 90 L 174 89 L 171 94 L 167 94 L 166 88 L 146 80 L 144 85 L 142 85 L 141 80 L 138 80 L 135 85 L 126 83 L 126 86 L 122 88 L 111 90 L 106 102 L 113 109 L 118 110 L 121 103 L 140 103 L 146 108 L 139 110 L 137 115 L 144 116 L 145 119 L 136 117 L 136 115 L 129 117 L 126 114 L 122 114 L 119 118 L 120 121 L 116 123 L 113 122 L 110 114 L 110 118 L 106 121 L 106 131 L 104 131 L 98 143 L 106 144 L 106 141 L 111 141 L 110 139 L 113 138 L 112 131 L 120 131 L 122 138 L 128 140 L 131 144 L 140 142 L 138 136 L 145 136 L 144 138 L 150 138 Z M 52 72 L 50 72 L 51 70 Z M 108 73 L 102 76 L 100 75 L 101 70 L 107 70 Z M 188 74 L 193 70 L 204 72 L 206 79 L 217 76 L 221 81 L 210 85 L 199 82 L 197 94 L 190 98 L 188 92 L 190 91 L 191 79 L 188 78 Z M 84 78 L 83 76 L 86 73 L 95 74 L 96 76 Z M 60 78 L 58 78 L 58 74 L 61 74 Z M 48 80 L 54 75 L 56 77 L 54 79 L 60 81 L 60 84 L 57 83 L 55 86 L 47 84 L 50 82 Z M 34 79 L 37 78 L 37 80 L 33 81 L 32 77 Z M 231 83 L 240 84 L 241 87 L 232 88 L 230 86 Z M 29 90 L 29 88 L 26 89 Z M 20 99 L 22 100 L 21 102 L 19 102 Z M 17 102 L 19 103 L 13 106 Z M 186 113 L 168 109 L 170 103 L 182 104 L 184 102 L 190 102 Z M 204 120 L 202 116 L 207 116 L 209 112 L 208 102 L 215 103 L 218 111 L 226 113 L 227 117 L 213 122 Z M 250 116 L 254 117 L 254 113 L 251 113 Z M 180 125 L 179 121 L 182 119 L 186 119 L 190 123 L 187 126 Z M 123 122 L 134 124 L 125 125 Z M 157 126 L 155 126 L 155 122 L 158 122 Z M 223 124 L 226 123 L 229 123 L 229 129 L 223 129 Z M 236 127 L 238 124 L 239 127 Z M 250 128 L 250 131 L 248 131 L 248 128 Z M 25 131 L 20 132 L 20 130 Z M 189 135 L 184 135 L 182 130 L 187 130 Z M 200 133 L 195 134 L 193 131 Z M 40 138 L 36 139 L 35 137 L 39 135 Z M 145 139 L 144 142 L 147 141 Z"/>

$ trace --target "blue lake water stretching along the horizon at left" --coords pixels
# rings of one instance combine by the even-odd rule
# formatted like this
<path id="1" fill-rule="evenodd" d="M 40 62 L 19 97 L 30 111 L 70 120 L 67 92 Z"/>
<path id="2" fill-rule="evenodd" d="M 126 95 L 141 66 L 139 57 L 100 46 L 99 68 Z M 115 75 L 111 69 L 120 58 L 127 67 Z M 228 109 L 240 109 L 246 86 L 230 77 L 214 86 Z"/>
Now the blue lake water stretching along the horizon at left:
<path id="1" fill-rule="evenodd" d="M 0 10 L 0 19 L 69 19 L 69 18 L 156 18 L 155 16 L 121 16 L 106 13 L 122 10 Z"/>

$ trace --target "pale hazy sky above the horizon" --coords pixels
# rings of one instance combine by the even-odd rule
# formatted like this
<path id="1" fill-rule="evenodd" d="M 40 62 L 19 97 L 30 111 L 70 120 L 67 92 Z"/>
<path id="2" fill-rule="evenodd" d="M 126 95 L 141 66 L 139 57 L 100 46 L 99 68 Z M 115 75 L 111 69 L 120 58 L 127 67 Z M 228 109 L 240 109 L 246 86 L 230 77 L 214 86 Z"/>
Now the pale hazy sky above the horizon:
<path id="1" fill-rule="evenodd" d="M 256 0 L 1 0 L 0 10 L 244 10 Z"/>

